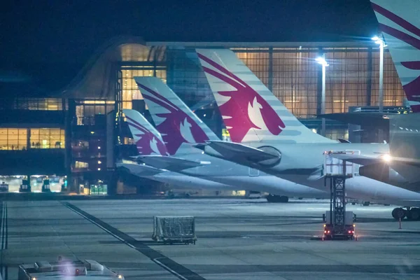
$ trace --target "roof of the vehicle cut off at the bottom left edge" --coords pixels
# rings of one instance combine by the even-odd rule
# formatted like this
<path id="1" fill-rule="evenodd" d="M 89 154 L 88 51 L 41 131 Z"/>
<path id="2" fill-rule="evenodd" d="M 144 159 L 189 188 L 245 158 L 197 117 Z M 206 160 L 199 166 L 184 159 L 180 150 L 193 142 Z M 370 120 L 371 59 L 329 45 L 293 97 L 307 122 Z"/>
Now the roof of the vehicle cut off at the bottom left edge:
<path id="1" fill-rule="evenodd" d="M 95 260 L 63 260 L 57 262 L 37 261 L 19 265 L 18 280 L 52 279 L 124 280 L 124 276 L 113 272 Z"/>

